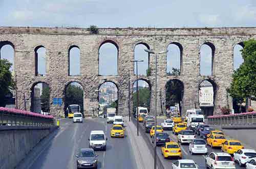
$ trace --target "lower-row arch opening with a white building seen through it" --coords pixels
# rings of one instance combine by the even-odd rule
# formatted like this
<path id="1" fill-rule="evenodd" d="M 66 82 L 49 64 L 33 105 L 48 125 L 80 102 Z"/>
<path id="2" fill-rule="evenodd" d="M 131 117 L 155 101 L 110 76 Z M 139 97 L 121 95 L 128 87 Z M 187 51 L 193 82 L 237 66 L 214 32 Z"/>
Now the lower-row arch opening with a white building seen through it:
<path id="1" fill-rule="evenodd" d="M 199 107 L 205 117 L 214 114 L 216 87 L 212 80 L 203 80 L 199 84 Z"/>

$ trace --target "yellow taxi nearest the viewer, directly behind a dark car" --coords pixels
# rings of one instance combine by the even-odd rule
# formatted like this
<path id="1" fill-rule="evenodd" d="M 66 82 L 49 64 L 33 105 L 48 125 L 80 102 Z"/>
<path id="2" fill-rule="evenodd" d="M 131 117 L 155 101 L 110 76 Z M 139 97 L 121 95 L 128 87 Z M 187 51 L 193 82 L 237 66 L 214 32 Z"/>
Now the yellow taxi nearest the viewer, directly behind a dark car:
<path id="1" fill-rule="evenodd" d="M 182 158 L 182 153 L 179 144 L 174 141 L 165 142 L 161 147 L 162 155 L 164 158 L 168 157 L 178 157 Z"/>

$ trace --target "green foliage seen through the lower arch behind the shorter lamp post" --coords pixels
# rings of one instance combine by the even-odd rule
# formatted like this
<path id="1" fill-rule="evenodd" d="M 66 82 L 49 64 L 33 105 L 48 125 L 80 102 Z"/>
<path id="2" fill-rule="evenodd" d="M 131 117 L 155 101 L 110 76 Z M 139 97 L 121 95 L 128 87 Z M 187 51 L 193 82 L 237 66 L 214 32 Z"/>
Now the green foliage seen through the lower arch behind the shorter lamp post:
<path id="1" fill-rule="evenodd" d="M 139 107 L 150 109 L 150 89 L 143 87 L 139 89 Z M 137 108 L 137 91 L 133 94 L 133 111 Z"/>

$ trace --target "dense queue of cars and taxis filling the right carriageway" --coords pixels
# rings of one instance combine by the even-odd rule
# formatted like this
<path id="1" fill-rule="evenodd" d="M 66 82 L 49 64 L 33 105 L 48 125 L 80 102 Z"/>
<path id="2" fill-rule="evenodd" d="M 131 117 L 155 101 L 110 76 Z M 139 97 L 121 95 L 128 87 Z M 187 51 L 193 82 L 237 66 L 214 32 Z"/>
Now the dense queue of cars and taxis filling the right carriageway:
<path id="1" fill-rule="evenodd" d="M 253 149 L 245 149 L 241 141 L 227 139 L 223 131 L 214 129 L 204 124 L 204 117 L 199 111 L 189 110 L 185 119 L 180 115 L 170 116 L 164 119 L 161 125 L 156 126 L 154 116 L 140 115 L 139 122 L 143 123 L 146 133 L 150 134 L 152 143 L 161 146 L 161 154 L 164 159 L 179 159 L 173 162 L 173 168 L 198 168 L 193 160 L 182 160 L 182 144 L 188 145 L 191 155 L 205 155 L 206 168 L 236 168 L 235 163 L 239 166 L 245 166 L 247 169 L 256 168 L 256 151 Z M 192 113 L 191 113 L 192 112 Z M 177 141 L 171 139 L 169 132 L 172 131 L 177 137 Z M 208 152 L 208 148 L 220 148 L 219 153 Z"/>

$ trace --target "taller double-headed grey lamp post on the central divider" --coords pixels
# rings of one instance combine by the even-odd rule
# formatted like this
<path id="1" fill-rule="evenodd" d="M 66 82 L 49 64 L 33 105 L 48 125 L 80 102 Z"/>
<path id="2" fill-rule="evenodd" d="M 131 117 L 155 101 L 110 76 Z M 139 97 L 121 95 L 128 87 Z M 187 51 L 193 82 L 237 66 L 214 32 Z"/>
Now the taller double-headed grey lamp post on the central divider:
<path id="1" fill-rule="evenodd" d="M 155 81 L 156 81 L 156 84 L 155 84 L 155 86 L 156 86 L 156 94 L 155 94 L 155 100 L 156 100 L 156 105 L 155 105 L 155 107 L 156 107 L 156 109 L 155 109 L 155 135 L 154 135 L 154 151 L 155 151 L 155 154 L 154 154 L 154 168 L 156 169 L 157 168 L 157 144 L 156 144 L 156 133 L 157 133 L 157 131 L 156 131 L 156 128 L 157 128 L 157 56 L 158 55 L 160 55 L 160 54 L 166 54 L 167 52 L 168 52 L 168 50 L 166 50 L 166 51 L 162 51 L 162 52 L 159 52 L 159 53 L 156 53 L 156 52 L 154 52 L 154 51 L 152 51 L 152 50 L 148 50 L 148 49 L 145 49 L 144 50 L 145 52 L 147 52 L 147 53 L 150 53 L 150 54 L 156 54 L 156 77 L 155 77 Z"/>

